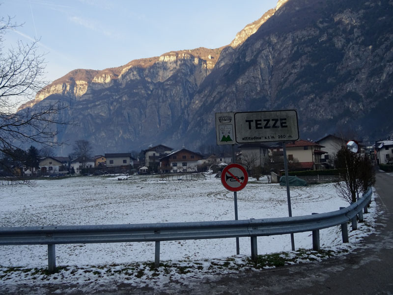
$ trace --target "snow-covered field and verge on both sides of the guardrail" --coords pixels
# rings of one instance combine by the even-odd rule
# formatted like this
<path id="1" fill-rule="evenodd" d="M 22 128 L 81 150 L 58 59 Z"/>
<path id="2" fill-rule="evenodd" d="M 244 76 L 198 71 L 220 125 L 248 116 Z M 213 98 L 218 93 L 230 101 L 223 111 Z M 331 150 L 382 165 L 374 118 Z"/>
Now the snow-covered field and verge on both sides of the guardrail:
<path id="1" fill-rule="evenodd" d="M 198 180 L 163 180 L 159 176 L 131 176 L 119 181 L 112 177 L 72 177 L 38 180 L 33 187 L 0 185 L 0 226 L 128 224 L 233 220 L 233 193 L 220 179 L 208 176 Z M 265 180 L 250 179 L 238 192 L 239 219 L 287 217 L 286 189 Z M 333 184 L 291 187 L 292 215 L 322 213 L 347 207 L 337 197 Z M 320 231 L 321 248 L 346 251 L 369 235 L 375 220 L 375 207 L 365 215 L 358 231 L 350 231 L 350 243 L 341 243 L 338 227 Z M 312 247 L 311 233 L 295 234 L 296 249 Z M 290 236 L 258 237 L 258 254 L 291 252 Z M 302 250 L 303 251 L 303 250 Z M 303 251 L 304 252 L 304 251 Z M 308 255 L 319 260 L 318 253 Z M 234 238 L 161 242 L 161 262 L 187 265 L 207 271 L 212 265 L 236 265 L 241 269 L 251 255 L 250 238 L 240 238 L 240 256 Z M 299 263 L 298 258 L 287 263 Z M 305 258 L 309 261 L 309 258 Z M 0 246 L 0 287 L 40 278 L 42 282 L 64 283 L 78 280 L 120 280 L 130 284 L 166 282 L 168 269 L 152 276 L 146 262 L 154 261 L 154 243 L 56 245 L 56 265 L 60 275 L 42 272 L 47 266 L 47 247 Z M 16 268 L 15 268 L 16 267 Z M 248 266 L 247 266 L 248 267 Z M 229 267 L 231 268 L 231 267 Z M 12 269 L 12 271 L 11 271 Z M 120 271 L 117 271 L 119 270 Z M 123 270 L 121 270 L 123 269 Z M 226 267 L 228 269 L 228 267 Z M 159 270 L 158 270 L 159 271 Z M 222 272 L 222 270 L 220 270 Z M 108 273 L 111 273 L 108 276 Z M 149 277 L 150 275 L 150 277 Z M 186 274 L 178 274 L 186 275 Z M 93 278 L 91 278 L 92 276 Z M 198 275 L 200 276 L 200 274 Z M 125 278 L 127 277 L 127 278 Z"/>

